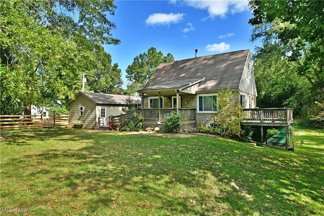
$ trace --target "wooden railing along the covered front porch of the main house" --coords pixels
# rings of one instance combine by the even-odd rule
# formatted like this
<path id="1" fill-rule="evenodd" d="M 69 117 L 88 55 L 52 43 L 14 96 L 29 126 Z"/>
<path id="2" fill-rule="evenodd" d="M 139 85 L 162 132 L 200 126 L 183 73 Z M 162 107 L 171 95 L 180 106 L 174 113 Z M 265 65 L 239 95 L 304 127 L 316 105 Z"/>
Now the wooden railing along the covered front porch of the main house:
<path id="1" fill-rule="evenodd" d="M 165 121 L 172 112 L 177 112 L 176 108 L 155 108 L 142 109 L 144 121 Z M 182 121 L 189 121 L 196 119 L 196 109 L 179 108 L 179 114 Z"/>

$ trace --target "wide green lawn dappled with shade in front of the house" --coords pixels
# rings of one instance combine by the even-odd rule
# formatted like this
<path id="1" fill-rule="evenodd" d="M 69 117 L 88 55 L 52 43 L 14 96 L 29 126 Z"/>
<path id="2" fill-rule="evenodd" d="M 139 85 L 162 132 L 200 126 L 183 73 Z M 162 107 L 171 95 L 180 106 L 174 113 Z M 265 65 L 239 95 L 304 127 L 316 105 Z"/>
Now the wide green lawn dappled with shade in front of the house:
<path id="1" fill-rule="evenodd" d="M 294 152 L 203 136 L 1 134 L 3 215 L 324 215 L 323 130 L 299 128 Z"/>

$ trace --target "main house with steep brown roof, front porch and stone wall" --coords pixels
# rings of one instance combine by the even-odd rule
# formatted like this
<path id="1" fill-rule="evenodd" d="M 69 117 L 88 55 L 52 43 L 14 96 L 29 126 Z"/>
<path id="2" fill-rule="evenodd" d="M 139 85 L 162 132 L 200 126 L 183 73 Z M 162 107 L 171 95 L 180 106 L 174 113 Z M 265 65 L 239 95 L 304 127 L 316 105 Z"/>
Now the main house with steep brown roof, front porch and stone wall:
<path id="1" fill-rule="evenodd" d="M 160 126 L 176 111 L 182 129 L 197 123 L 213 125 L 218 93 L 235 92 L 233 103 L 255 108 L 257 90 L 250 50 L 185 59 L 160 64 L 142 96 L 143 127 Z"/>

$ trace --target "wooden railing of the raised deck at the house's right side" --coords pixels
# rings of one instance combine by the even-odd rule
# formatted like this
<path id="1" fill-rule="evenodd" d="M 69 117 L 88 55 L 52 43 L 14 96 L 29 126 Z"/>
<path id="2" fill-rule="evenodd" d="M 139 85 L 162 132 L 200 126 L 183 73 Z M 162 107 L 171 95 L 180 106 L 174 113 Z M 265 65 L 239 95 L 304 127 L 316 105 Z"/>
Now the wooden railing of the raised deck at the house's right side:
<path id="1" fill-rule="evenodd" d="M 246 118 L 244 122 L 288 123 L 293 119 L 292 108 L 244 109 L 242 112 Z"/>

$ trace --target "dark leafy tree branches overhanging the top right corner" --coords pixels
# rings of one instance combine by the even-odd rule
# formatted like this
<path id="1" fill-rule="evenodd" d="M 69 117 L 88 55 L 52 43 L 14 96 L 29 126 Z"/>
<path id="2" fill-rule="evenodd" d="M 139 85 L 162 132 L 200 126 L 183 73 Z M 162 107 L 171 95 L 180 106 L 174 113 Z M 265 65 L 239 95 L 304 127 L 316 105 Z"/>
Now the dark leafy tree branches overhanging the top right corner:
<path id="1" fill-rule="evenodd" d="M 275 38 L 290 46 L 290 60 L 297 62 L 298 73 L 312 85 L 324 86 L 324 2 L 323 1 L 251 1 L 255 29 L 253 39 L 269 32 L 262 24 L 280 22 L 273 29 Z M 284 25 L 287 23 L 286 25 Z"/>

